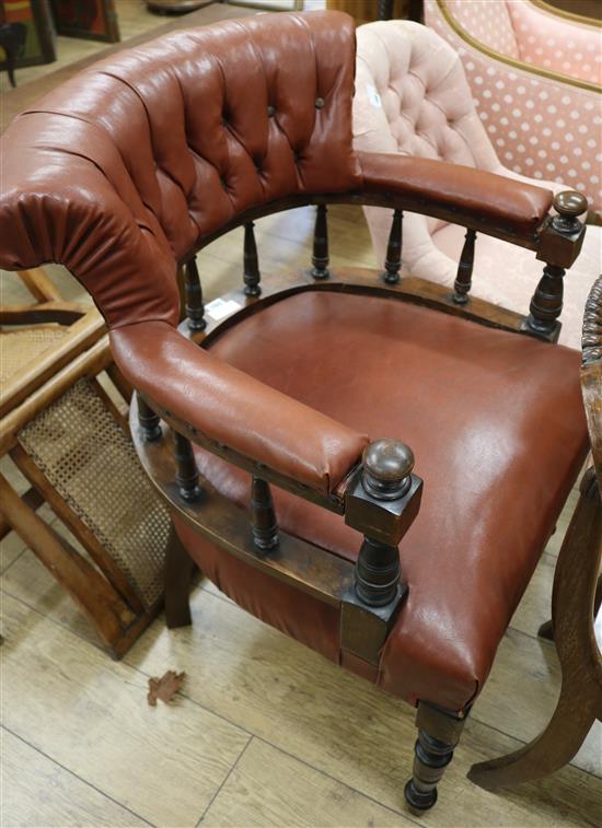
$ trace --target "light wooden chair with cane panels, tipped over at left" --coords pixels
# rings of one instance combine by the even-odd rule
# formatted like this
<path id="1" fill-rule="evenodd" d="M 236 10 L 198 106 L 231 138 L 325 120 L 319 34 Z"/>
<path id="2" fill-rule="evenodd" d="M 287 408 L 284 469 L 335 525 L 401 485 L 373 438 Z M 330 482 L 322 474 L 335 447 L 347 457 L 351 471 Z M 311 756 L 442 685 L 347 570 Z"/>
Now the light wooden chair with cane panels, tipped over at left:
<path id="1" fill-rule="evenodd" d="M 178 544 L 131 444 L 131 386 L 102 315 L 65 301 L 40 268 L 16 276 L 35 302 L 0 307 L 0 456 L 31 486 L 20 498 L 0 474 L 0 540 L 16 532 L 120 656 L 163 605 L 169 550 L 177 581 Z M 43 503 L 86 555 L 36 513 Z M 169 595 L 166 609 L 182 620 Z"/>

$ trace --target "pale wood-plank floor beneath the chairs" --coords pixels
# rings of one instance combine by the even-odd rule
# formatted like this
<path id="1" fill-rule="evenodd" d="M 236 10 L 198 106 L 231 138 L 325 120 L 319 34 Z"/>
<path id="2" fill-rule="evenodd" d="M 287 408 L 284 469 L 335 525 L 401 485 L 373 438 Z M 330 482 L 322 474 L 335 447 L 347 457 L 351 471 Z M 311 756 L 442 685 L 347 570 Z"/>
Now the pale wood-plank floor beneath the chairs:
<path id="1" fill-rule="evenodd" d="M 329 220 L 333 263 L 374 266 L 361 211 L 332 208 Z M 312 222 L 309 208 L 257 222 L 266 277 L 306 266 Z M 240 284 L 241 264 L 241 231 L 199 256 L 208 300 Z M 49 270 L 67 295 L 82 295 L 69 275 Z M 16 299 L 9 275 L 2 283 L 3 301 Z M 7 462 L 2 470 L 16 481 Z M 541 783 L 491 794 L 465 778 L 473 762 L 532 738 L 554 708 L 558 664 L 535 631 L 549 614 L 576 499 L 574 490 L 439 804 L 422 818 L 403 804 L 415 738 L 407 705 L 255 620 L 205 581 L 193 595 L 193 627 L 169 632 L 159 618 L 113 662 L 50 574 L 9 535 L 0 545 L 2 828 L 600 826 L 600 726 L 571 766 Z M 169 707 L 149 708 L 148 678 L 166 669 L 185 670 L 184 686 Z"/>

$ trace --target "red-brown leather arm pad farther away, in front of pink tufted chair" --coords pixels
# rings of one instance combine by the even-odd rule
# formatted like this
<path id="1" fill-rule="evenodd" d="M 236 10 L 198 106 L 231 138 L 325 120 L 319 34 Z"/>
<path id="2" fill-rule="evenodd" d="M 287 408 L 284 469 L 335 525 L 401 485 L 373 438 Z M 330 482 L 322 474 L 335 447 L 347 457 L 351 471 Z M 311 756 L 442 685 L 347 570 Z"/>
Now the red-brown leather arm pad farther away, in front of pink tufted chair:
<path id="1" fill-rule="evenodd" d="M 358 159 L 367 194 L 406 196 L 427 208 L 436 203 L 462 222 L 490 221 L 520 237 L 532 238 L 554 199 L 542 187 L 444 161 L 377 152 L 358 152 Z"/>

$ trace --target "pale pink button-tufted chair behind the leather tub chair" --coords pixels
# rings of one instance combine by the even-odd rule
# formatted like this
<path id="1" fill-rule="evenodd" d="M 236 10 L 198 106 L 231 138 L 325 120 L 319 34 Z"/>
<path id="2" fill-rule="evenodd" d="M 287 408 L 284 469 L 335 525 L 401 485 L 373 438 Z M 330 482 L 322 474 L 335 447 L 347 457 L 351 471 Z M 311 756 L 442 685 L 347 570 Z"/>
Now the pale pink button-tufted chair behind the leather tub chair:
<path id="1" fill-rule="evenodd" d="M 503 167 L 475 112 L 462 62 L 418 23 L 369 23 L 357 32 L 354 135 L 358 150 L 440 159 L 530 180 Z M 547 182 L 554 191 L 566 186 Z M 384 261 L 391 211 L 364 208 L 374 250 Z M 425 215 L 404 217 L 404 270 L 452 288 L 465 229 Z M 565 280 L 560 341 L 580 347 L 583 306 L 601 267 L 602 229 L 591 226 L 580 259 Z M 524 312 L 541 269 L 529 250 L 479 236 L 473 294 Z M 402 271 L 404 272 L 404 271 Z M 512 275 L 512 278 L 507 276 Z"/>

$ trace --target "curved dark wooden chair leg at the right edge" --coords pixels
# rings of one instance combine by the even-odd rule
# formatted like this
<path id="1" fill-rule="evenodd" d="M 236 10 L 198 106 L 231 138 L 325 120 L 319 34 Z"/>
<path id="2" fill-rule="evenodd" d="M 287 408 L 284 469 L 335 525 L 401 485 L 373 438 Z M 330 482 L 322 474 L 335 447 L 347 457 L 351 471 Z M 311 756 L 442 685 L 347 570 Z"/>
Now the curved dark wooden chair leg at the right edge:
<path id="1" fill-rule="evenodd" d="M 602 721 L 602 658 L 593 630 L 601 558 L 602 504 L 589 469 L 554 575 L 552 622 L 563 676 L 560 698 L 533 742 L 471 768 L 468 779 L 482 788 L 508 788 L 554 773 L 574 758 L 595 719 Z"/>

